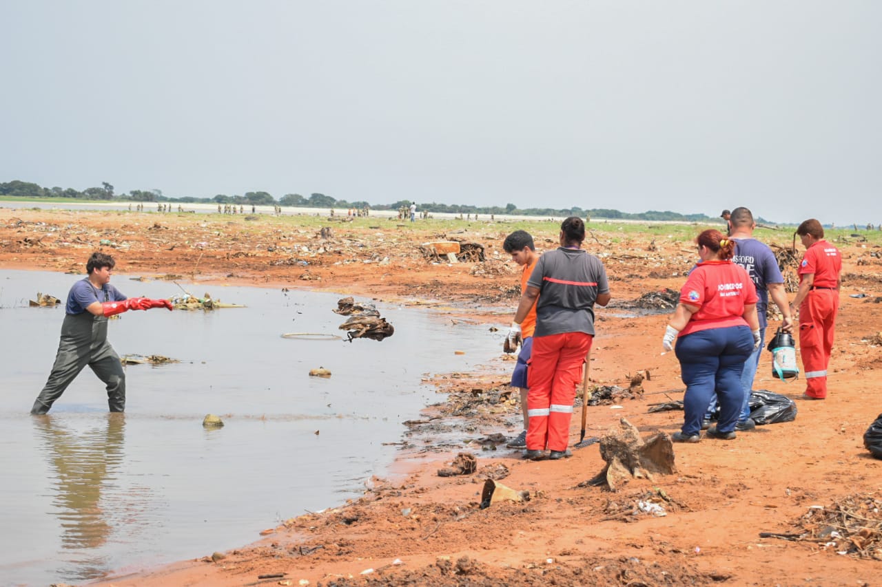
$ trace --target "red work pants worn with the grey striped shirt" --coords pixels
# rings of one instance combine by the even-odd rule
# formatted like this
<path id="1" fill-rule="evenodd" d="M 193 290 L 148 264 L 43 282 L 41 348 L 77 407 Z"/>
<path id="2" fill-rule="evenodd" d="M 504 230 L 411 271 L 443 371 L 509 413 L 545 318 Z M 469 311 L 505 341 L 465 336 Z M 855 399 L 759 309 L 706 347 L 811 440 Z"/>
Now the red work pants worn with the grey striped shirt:
<path id="1" fill-rule="evenodd" d="M 576 385 L 593 340 L 585 332 L 533 337 L 527 371 L 527 450 L 544 450 L 546 445 L 549 450 L 566 450 Z"/>

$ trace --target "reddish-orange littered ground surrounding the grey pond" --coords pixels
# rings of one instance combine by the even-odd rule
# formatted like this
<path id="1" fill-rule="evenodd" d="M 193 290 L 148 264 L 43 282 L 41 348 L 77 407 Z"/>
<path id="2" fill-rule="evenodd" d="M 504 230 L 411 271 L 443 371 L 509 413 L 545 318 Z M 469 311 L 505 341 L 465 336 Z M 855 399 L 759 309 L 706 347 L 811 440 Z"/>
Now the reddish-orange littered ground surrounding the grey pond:
<path id="1" fill-rule="evenodd" d="M 415 304 L 443 301 L 445 311 L 505 329 L 510 322 L 505 310 L 513 310 L 518 294 L 515 268 L 505 263 L 501 242 L 513 227 L 461 225 L 464 232 L 445 235 L 431 220 L 415 225 L 328 221 L 334 236 L 323 242 L 318 228 L 297 227 L 290 218 L 0 209 L 0 267 L 81 272 L 104 239 L 116 245 L 104 249 L 116 256 L 117 271 L 128 274 L 311 287 Z M 557 230 L 549 223 L 534 231 L 537 246 L 556 246 Z M 613 233 L 596 234 L 597 241 L 587 241 L 586 248 L 609 253 L 604 263 L 617 302 L 663 287 L 679 289 L 694 258 L 684 243 L 664 241 L 649 250 L 648 238 L 626 237 L 614 245 Z M 489 261 L 428 263 L 416 245 L 446 236 L 480 242 Z M 880 561 L 836 554 L 815 542 L 759 538 L 761 531 L 798 532 L 809 506 L 872 494 L 882 485 L 882 461 L 872 459 L 862 442 L 864 430 L 882 412 L 874 379 L 882 355 L 878 339 L 876 345 L 867 342 L 882 331 L 882 304 L 875 302 L 882 295 L 880 264 L 860 244 L 843 243 L 841 250 L 845 279 L 830 397 L 798 401 L 794 422 L 758 427 L 733 442 L 703 438 L 698 444 L 676 444 L 678 473 L 651 482 L 635 479 L 617 493 L 578 487 L 602 470 L 596 444 L 557 462 L 526 462 L 512 450 L 490 453 L 493 458 L 478 452 L 479 472 L 449 478 L 436 471 L 455 450 L 403 451 L 392 480 L 373 479 L 360 500 L 292 518 L 262 539 L 258 531 L 263 529 L 255 529 L 258 542 L 231 552 L 214 557 L 206 552 L 203 559 L 111 576 L 98 584 L 877 584 Z M 848 297 L 856 293 L 869 297 Z M 616 317 L 615 308 L 598 314 L 593 383 L 627 387 L 630 375 L 649 370 L 652 378 L 643 384 L 647 394 L 682 386 L 673 353 L 660 355 L 667 315 Z M 461 390 L 497 389 L 511 365 L 446 383 Z M 755 389 L 791 398 L 804 390 L 802 381 L 781 383 L 769 370 L 766 357 Z M 647 412 L 648 404 L 665 399 L 656 394 L 625 400 L 622 409 L 589 407 L 587 435 L 602 435 L 621 417 L 644 435 L 672 433 L 682 412 Z M 507 421 L 516 421 L 517 407 L 507 403 L 505 409 Z M 490 421 L 475 420 L 481 435 L 498 431 L 490 429 Z M 516 431 L 509 427 L 507 432 Z M 571 432 L 577 442 L 579 409 Z M 482 470 L 498 464 L 509 472 L 503 483 L 528 490 L 529 502 L 478 508 Z M 665 504 L 668 515 L 632 515 L 634 503 L 657 489 L 674 502 Z M 361 574 L 369 568 L 373 572 Z M 258 578 L 265 575 L 278 576 Z"/>

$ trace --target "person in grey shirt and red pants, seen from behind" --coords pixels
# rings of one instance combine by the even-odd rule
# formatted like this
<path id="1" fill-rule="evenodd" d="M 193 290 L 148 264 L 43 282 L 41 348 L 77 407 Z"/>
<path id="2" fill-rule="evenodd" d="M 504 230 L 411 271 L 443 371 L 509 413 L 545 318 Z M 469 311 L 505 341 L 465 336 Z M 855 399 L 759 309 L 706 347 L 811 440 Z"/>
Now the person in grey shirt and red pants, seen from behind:
<path id="1" fill-rule="evenodd" d="M 527 374 L 527 450 L 524 457 L 571 457 L 570 420 L 576 385 L 594 340 L 594 304 L 609 303 L 609 283 L 600 259 L 581 249 L 585 223 L 571 216 L 561 224 L 560 247 L 539 257 L 514 315 L 509 339 L 536 308 L 536 328 Z M 537 301 L 538 298 L 538 301 Z"/>

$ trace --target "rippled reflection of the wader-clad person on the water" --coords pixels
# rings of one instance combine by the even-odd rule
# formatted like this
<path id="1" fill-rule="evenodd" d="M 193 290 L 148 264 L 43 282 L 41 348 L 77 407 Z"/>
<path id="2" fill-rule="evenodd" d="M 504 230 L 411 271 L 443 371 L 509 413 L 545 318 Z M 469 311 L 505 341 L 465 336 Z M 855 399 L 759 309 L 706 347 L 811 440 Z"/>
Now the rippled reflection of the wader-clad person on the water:
<path id="1" fill-rule="evenodd" d="M 103 575 L 106 556 L 97 554 L 113 531 L 112 501 L 102 500 L 101 492 L 115 480 L 123 461 L 125 415 L 108 413 L 92 420 L 85 431 L 71 422 L 49 414 L 32 418 L 38 442 L 49 461 L 49 488 L 55 492 L 50 513 L 59 520 L 61 546 L 79 551 L 71 571 L 62 571 L 66 580 L 91 579 Z"/>

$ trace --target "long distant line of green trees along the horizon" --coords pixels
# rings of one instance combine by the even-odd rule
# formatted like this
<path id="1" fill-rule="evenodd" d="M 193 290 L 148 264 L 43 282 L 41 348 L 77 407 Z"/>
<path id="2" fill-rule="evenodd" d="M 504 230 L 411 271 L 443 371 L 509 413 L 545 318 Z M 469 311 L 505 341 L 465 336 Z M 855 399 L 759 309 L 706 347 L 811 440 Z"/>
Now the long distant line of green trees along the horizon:
<path id="1" fill-rule="evenodd" d="M 120 202 L 176 202 L 176 203 L 197 203 L 197 204 L 248 204 L 248 205 L 281 205 L 291 207 L 304 208 L 337 208 L 346 210 L 348 208 L 370 210 L 398 210 L 401 207 L 409 207 L 411 200 L 399 200 L 391 204 L 370 204 L 365 201 L 348 202 L 347 200 L 338 200 L 325 194 L 310 194 L 309 197 L 301 194 L 285 194 L 276 200 L 271 194 L 265 191 L 249 191 L 244 195 L 228 196 L 226 194 L 218 194 L 214 197 L 166 197 L 162 195 L 161 189 L 132 189 L 127 194 L 117 194 L 114 186 L 108 182 L 101 182 L 101 187 L 87 188 L 82 191 L 72 188 L 44 188 L 36 183 L 22 182 L 14 180 L 11 182 L 0 182 L 0 197 L 53 197 L 53 198 L 71 198 L 79 200 L 110 200 Z M 626 219 L 626 220 L 648 220 L 648 221 L 676 221 L 676 222 L 714 222 L 721 219 L 713 219 L 705 214 L 680 214 L 678 212 L 656 211 L 647 212 L 620 212 L 608 208 L 580 208 L 573 206 L 572 208 L 524 208 L 520 209 L 516 204 L 505 204 L 505 206 L 474 206 L 466 204 L 438 204 L 437 202 L 417 202 L 417 207 L 421 212 L 447 212 L 452 214 L 482 214 L 489 216 L 491 214 L 519 214 L 522 216 L 579 216 L 580 218 L 597 218 L 597 219 Z M 762 219 L 757 219 L 761 221 Z"/>

